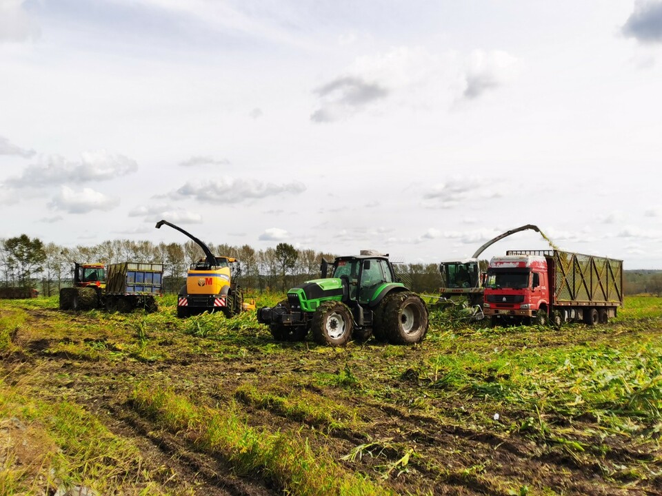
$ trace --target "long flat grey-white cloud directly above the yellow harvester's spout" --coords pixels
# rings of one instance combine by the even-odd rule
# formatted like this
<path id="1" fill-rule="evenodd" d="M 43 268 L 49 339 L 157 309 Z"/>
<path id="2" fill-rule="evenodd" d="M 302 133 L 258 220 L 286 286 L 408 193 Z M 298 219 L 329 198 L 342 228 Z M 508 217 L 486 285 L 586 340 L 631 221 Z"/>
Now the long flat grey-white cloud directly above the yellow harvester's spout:
<path id="1" fill-rule="evenodd" d="M 194 198 L 205 203 L 241 203 L 245 200 L 267 198 L 280 194 L 299 194 L 305 191 L 303 183 L 294 181 L 276 185 L 263 183 L 260 180 L 234 179 L 225 176 L 220 179 L 193 181 L 186 183 L 177 191 L 172 192 L 172 198 Z"/>

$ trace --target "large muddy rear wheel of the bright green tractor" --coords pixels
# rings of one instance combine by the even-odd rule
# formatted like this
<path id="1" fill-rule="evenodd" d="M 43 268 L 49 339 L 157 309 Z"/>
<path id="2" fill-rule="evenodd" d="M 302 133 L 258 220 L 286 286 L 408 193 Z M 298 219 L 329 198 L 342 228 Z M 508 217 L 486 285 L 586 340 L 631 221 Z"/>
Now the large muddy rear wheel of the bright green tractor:
<path id="1" fill-rule="evenodd" d="M 382 324 L 392 344 L 421 342 L 428 332 L 428 309 L 425 302 L 411 291 L 387 296 L 383 303 Z"/>

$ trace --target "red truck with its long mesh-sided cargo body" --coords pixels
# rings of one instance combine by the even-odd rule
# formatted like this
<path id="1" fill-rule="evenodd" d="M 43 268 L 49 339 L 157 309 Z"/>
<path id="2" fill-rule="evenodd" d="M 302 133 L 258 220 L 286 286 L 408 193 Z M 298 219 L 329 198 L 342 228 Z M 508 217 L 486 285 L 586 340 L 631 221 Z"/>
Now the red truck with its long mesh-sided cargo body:
<path id="1" fill-rule="evenodd" d="M 492 325 L 594 325 L 623 307 L 623 261 L 561 250 L 507 251 L 490 260 L 483 313 Z"/>

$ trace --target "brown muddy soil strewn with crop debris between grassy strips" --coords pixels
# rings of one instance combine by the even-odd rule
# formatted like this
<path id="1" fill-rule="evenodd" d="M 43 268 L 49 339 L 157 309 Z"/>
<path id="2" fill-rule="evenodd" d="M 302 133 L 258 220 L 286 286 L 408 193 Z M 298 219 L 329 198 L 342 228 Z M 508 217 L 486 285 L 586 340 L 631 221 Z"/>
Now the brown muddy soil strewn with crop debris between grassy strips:
<path id="1" fill-rule="evenodd" d="M 152 472 L 163 488 L 174 492 L 276 495 L 281 494 L 281 488 L 265 483 L 259 474 L 236 475 L 226 460 L 197 450 L 183 437 L 139 415 L 130 402 L 139 382 L 168 386 L 199 403 L 221 409 L 230 402 L 239 404 L 249 425 L 308 437 L 313 448 L 332 453 L 348 471 L 365 473 L 401 494 L 662 494 L 660 477 L 633 480 L 628 474 L 617 475 L 614 469 L 638 463 L 661 469 L 661 453 L 650 448 L 642 451 L 627 437 L 601 437 L 597 420 L 590 416 L 572 422 L 577 430 L 595 433 L 583 443 L 596 448 L 576 456 L 562 445 L 504 427 L 519 424 L 529 412 L 502 413 L 499 421 L 490 425 L 473 413 L 490 408 L 480 399 L 434 395 L 430 385 L 419 378 L 417 368 L 406 366 L 420 362 L 421 353 L 431 353 L 432 345 L 405 347 L 390 356 L 384 345 L 371 340 L 350 351 L 319 353 L 319 347 L 312 343 L 273 345 L 268 332 L 249 329 L 243 331 L 250 337 L 243 340 L 241 353 L 228 353 L 225 348 L 201 353 L 191 346 L 194 338 L 179 342 L 172 333 L 154 332 L 154 347 L 167 350 L 165 358 L 109 359 L 109 353 L 122 349 L 121 338 L 110 330 L 63 337 L 57 330 L 62 312 L 29 310 L 28 314 L 29 330 L 21 328 L 13 337 L 19 351 L 3 357 L 1 373 L 6 382 L 39 391 L 48 400 L 66 398 L 83 405 L 112 433 L 136 444 L 145 460 L 142 469 Z M 70 326 L 75 327 L 77 319 L 74 317 Z M 662 329 L 648 327 L 639 332 L 659 339 Z M 571 336 L 572 332 L 560 335 L 550 330 L 546 337 L 536 335 L 537 343 L 528 343 L 557 346 L 568 344 Z M 592 338 L 607 340 L 608 336 Z M 63 342 L 68 350 L 103 343 L 105 354 L 62 351 Z M 341 375 L 348 360 L 351 373 L 358 378 L 356 387 L 338 386 L 327 380 Z M 388 373 L 397 360 L 403 372 Z M 375 377 L 380 378 L 380 394 L 370 388 L 370 380 Z M 260 391 L 316 395 L 357 413 L 357 417 L 343 428 L 325 428 L 238 395 L 237 389 L 247 384 Z M 414 408 L 420 402 L 425 402 L 425 408 Z M 548 418 L 548 422 L 556 421 L 568 419 L 554 419 L 553 415 Z M 357 452 L 359 446 L 365 448 Z M 348 457 L 351 453 L 358 455 L 352 459 Z M 405 453 L 410 453 L 410 461 L 401 466 L 397 462 Z"/>

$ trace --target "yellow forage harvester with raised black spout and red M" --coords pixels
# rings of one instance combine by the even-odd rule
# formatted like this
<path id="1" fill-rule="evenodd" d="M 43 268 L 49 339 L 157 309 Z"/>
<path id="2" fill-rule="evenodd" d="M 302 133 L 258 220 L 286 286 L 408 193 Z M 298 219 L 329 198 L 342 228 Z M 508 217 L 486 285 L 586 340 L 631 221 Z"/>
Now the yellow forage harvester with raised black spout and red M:
<path id="1" fill-rule="evenodd" d="M 188 317 L 203 311 L 221 310 L 231 317 L 243 311 L 243 289 L 239 287 L 239 261 L 227 256 L 214 256 L 205 243 L 167 220 L 159 220 L 156 227 L 168 225 L 185 234 L 201 247 L 205 256 L 191 264 L 186 284 L 177 297 L 177 316 Z"/>

